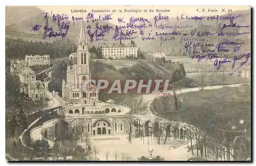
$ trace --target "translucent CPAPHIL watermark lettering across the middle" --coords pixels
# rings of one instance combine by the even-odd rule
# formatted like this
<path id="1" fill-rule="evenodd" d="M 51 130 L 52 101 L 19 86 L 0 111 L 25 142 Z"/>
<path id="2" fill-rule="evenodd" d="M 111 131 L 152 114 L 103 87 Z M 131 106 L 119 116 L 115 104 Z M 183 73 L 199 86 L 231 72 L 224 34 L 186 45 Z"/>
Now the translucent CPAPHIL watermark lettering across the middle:
<path id="1" fill-rule="evenodd" d="M 85 93 L 90 91 L 108 91 L 107 93 L 159 93 L 170 90 L 169 80 L 85 80 L 82 90 Z"/>

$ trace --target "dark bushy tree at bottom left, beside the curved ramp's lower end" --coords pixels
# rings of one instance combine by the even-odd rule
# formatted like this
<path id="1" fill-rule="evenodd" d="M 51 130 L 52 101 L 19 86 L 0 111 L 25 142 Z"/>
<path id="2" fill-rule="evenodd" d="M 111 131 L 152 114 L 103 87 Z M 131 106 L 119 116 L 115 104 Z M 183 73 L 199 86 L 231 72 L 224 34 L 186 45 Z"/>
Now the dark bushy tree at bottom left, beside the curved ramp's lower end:
<path id="1" fill-rule="evenodd" d="M 36 152 L 36 156 L 44 157 L 45 160 L 48 158 L 48 153 L 50 151 L 50 145 L 46 139 L 36 140 L 33 149 Z"/>

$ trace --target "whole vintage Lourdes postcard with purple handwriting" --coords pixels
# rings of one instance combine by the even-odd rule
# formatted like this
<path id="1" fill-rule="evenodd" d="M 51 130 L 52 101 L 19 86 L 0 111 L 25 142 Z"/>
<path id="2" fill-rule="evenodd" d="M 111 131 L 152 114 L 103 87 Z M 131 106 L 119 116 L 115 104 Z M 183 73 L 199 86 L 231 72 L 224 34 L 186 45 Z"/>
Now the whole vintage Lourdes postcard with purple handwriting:
<path id="1" fill-rule="evenodd" d="M 6 160 L 251 161 L 250 6 L 6 6 Z"/>

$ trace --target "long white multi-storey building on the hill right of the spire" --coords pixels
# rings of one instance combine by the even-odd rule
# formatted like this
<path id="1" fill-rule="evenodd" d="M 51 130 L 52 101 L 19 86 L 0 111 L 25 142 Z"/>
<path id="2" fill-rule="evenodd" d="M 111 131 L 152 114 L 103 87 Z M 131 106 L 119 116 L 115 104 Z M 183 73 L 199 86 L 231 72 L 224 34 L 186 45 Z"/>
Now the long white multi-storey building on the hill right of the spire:
<path id="1" fill-rule="evenodd" d="M 137 45 L 104 44 L 102 56 L 104 59 L 136 59 L 138 57 Z"/>

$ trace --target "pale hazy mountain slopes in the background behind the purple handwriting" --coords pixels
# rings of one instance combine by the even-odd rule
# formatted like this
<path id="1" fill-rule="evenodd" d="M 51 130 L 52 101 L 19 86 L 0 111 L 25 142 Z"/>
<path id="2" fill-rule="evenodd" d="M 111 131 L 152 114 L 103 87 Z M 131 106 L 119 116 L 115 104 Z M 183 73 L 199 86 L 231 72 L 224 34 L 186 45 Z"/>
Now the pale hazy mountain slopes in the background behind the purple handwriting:
<path id="1" fill-rule="evenodd" d="M 31 12 L 30 12 L 31 10 Z M 18 13 L 17 13 L 18 12 Z M 235 11 L 232 13 L 224 14 L 222 16 L 228 16 L 229 14 L 233 15 L 239 15 L 243 14 L 243 17 L 238 17 L 236 18 L 233 22 L 237 23 L 237 25 L 240 26 L 248 26 L 250 25 L 251 18 L 250 18 L 250 10 L 244 10 L 244 11 Z M 45 18 L 44 18 L 44 11 L 41 11 L 39 8 L 36 7 L 8 7 L 6 9 L 6 37 L 10 38 L 24 38 L 28 39 L 29 41 L 54 41 L 54 40 L 59 40 L 61 37 L 51 37 L 47 39 L 42 39 L 42 31 L 31 31 L 32 26 L 34 26 L 36 23 L 39 25 L 44 26 L 45 25 Z M 219 16 L 220 17 L 220 16 Z M 51 20 L 52 16 L 51 14 L 48 14 L 48 19 L 49 19 L 49 25 L 53 27 L 54 30 L 58 29 L 57 22 L 54 22 Z M 154 25 L 154 18 L 148 18 L 150 22 Z M 79 30 L 79 22 L 76 22 L 73 24 L 73 22 L 69 22 L 70 29 L 68 32 L 67 38 L 69 38 L 71 41 L 76 43 L 76 37 L 77 33 Z M 99 21 L 99 26 L 100 25 L 107 25 L 112 27 L 113 29 L 110 30 L 108 33 L 105 33 L 104 38 L 108 39 L 108 42 L 117 42 L 113 39 L 114 36 L 114 29 L 115 25 L 110 23 L 109 21 Z M 198 36 L 191 37 L 190 32 L 193 30 L 197 30 L 204 32 L 204 31 L 209 31 L 209 32 L 219 32 L 219 23 L 222 25 L 226 23 L 226 25 L 229 25 L 230 20 L 219 20 L 218 22 L 216 20 L 207 20 L 207 17 L 205 17 L 202 20 L 191 20 L 191 19 L 186 19 L 186 20 L 177 20 L 176 16 L 170 17 L 169 19 L 162 19 L 157 22 L 158 25 L 160 24 L 163 25 L 168 25 L 170 27 L 172 26 L 180 26 L 183 28 L 165 28 L 164 30 L 160 28 L 143 28 L 144 34 L 147 34 L 150 32 L 152 35 L 154 35 L 155 39 L 154 40 L 143 40 L 142 42 L 142 36 L 139 35 L 139 37 L 135 38 L 135 42 L 138 47 L 141 48 L 141 51 L 160 51 L 160 52 L 165 52 L 167 55 L 181 55 L 184 51 L 184 42 L 182 42 L 182 39 L 190 39 L 190 40 L 196 40 L 200 41 L 202 38 Z M 88 26 L 89 24 L 86 22 L 85 26 Z M 95 25 L 92 23 L 92 30 L 95 30 Z M 185 28 L 184 28 L 185 27 Z M 131 28 L 128 28 L 129 30 Z M 135 29 L 136 31 L 138 29 Z M 233 28 L 226 28 L 226 32 L 235 32 L 238 30 L 238 32 L 250 32 L 250 28 L 239 28 L 239 29 L 233 29 Z M 152 32 L 151 32 L 152 31 Z M 171 37 L 174 37 L 174 40 L 166 40 L 162 41 L 161 43 L 161 36 L 156 36 L 156 32 L 162 33 L 162 32 L 179 32 L 181 34 L 185 33 L 188 34 L 187 36 L 182 36 L 182 35 L 167 35 L 167 36 L 162 36 L 163 39 L 169 39 Z M 138 31 L 140 32 L 140 31 Z M 138 33 L 137 32 L 137 33 Z M 89 37 L 89 36 L 88 36 Z M 203 37 L 205 38 L 205 37 Z M 230 40 L 239 40 L 241 42 L 244 42 L 241 52 L 244 51 L 249 51 L 250 50 L 250 34 L 244 34 L 244 35 L 239 35 L 239 36 L 208 36 L 207 40 L 208 42 L 211 43 L 218 43 L 222 39 L 228 38 Z M 130 41 L 122 41 L 124 43 L 130 42 Z M 98 46 L 100 41 L 94 41 L 94 42 L 89 42 L 89 46 L 95 45 Z"/>

